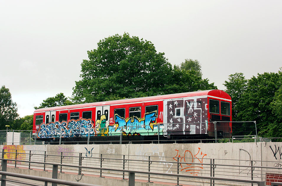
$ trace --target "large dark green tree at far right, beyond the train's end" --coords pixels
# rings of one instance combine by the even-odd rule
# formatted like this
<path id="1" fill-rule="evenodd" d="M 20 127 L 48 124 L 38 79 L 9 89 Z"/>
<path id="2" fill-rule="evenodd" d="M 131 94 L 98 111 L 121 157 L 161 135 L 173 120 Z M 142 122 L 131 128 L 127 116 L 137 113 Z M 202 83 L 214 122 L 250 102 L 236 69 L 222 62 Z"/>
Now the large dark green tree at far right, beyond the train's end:
<path id="1" fill-rule="evenodd" d="M 256 121 L 258 135 L 277 137 L 269 133 L 270 128 L 277 122 L 271 103 L 274 100 L 275 92 L 281 86 L 278 73 L 265 72 L 249 79 L 246 91 L 241 95 L 236 105 L 238 111 L 237 120 Z"/>

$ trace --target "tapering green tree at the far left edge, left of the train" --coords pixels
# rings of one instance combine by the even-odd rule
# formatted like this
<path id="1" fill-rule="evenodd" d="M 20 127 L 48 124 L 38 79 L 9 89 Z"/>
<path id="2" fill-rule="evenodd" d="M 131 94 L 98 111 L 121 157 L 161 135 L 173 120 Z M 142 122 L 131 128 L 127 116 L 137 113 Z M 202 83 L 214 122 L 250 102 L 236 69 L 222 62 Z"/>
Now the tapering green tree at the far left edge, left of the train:
<path id="1" fill-rule="evenodd" d="M 0 89 L 0 130 L 6 130 L 5 125 L 12 125 L 19 117 L 17 110 L 9 89 L 3 85 Z"/>

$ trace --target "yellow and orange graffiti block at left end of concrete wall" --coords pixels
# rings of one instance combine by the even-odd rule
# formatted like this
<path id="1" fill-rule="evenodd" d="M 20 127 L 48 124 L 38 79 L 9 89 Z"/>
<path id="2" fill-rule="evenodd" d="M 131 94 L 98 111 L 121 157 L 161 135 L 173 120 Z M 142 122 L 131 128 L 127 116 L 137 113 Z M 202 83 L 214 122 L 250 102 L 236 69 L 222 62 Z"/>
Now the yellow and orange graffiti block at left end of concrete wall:
<path id="1" fill-rule="evenodd" d="M 25 151 L 23 150 L 23 145 L 5 145 L 4 149 L 4 159 L 16 159 L 16 150 L 17 150 L 17 160 L 25 160 Z M 19 154 L 18 154 L 19 153 Z M 12 163 L 14 161 L 8 161 L 8 163 Z M 17 164 L 21 164 L 21 162 L 17 161 Z"/>

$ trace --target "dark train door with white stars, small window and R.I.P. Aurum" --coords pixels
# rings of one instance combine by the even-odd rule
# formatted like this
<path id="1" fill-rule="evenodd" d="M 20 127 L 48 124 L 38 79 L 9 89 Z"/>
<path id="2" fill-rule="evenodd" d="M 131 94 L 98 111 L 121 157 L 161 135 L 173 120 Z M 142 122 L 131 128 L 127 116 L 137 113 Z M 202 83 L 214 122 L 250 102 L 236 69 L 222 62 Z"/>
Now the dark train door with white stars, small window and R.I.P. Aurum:
<path id="1" fill-rule="evenodd" d="M 167 119 L 167 132 L 180 132 L 184 131 L 184 107 L 183 99 L 168 100 L 166 104 L 166 119 Z"/>

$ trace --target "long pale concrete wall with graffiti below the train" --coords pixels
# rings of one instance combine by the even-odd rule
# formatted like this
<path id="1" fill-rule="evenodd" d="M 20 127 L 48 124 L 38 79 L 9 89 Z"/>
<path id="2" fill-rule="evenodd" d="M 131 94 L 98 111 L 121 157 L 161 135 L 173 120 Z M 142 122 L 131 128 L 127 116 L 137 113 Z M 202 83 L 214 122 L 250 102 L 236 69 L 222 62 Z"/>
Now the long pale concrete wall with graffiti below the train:
<path id="1" fill-rule="evenodd" d="M 215 159 L 216 164 L 228 165 L 247 165 L 265 166 L 265 167 L 281 167 L 282 166 L 282 142 L 268 142 L 268 143 L 193 143 L 193 144 L 124 144 L 124 145 L 23 145 L 23 146 L 0 146 L 1 149 L 18 149 L 18 151 L 32 154 L 32 161 L 43 161 L 42 155 L 44 151 L 48 151 L 49 156 L 46 158 L 47 162 L 59 162 L 60 158 L 55 158 L 53 155 L 63 156 L 78 156 L 82 153 L 84 157 L 82 165 L 96 166 L 100 165 L 101 154 L 103 158 L 123 158 L 140 160 L 142 164 L 148 164 L 148 159 L 153 161 L 151 169 L 154 172 L 162 173 L 176 173 L 177 158 L 179 161 L 185 161 L 186 164 L 181 164 L 180 174 L 209 176 L 210 159 Z M 41 156 L 41 159 L 39 158 Z M 154 157 L 151 157 L 154 156 Z M 18 157 L 19 158 L 19 157 Z M 20 159 L 28 160 L 29 156 L 25 155 Z M 96 159 L 93 159 L 96 158 Z M 269 161 L 269 162 L 266 162 Z M 197 166 L 189 164 L 190 162 L 202 163 Z M 63 164 L 78 165 L 78 159 L 72 157 L 64 157 Z M 110 160 L 103 161 L 105 168 L 122 168 L 122 161 Z M 230 168 L 230 167 L 229 167 Z M 148 167 L 138 167 L 133 162 L 127 162 L 126 169 L 148 171 Z M 224 166 L 216 167 L 215 174 L 226 171 Z M 229 170 L 226 175 L 229 178 L 250 180 L 250 168 L 234 167 Z M 254 180 L 261 180 L 262 175 L 265 178 L 266 172 L 274 172 L 275 169 L 255 169 Z M 281 172 L 279 170 L 276 170 Z M 86 179 L 86 178 L 84 178 Z M 99 178 L 101 179 L 101 178 Z M 96 183 L 95 183 L 96 184 Z M 111 185 L 111 184 L 110 184 Z"/>

